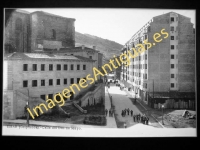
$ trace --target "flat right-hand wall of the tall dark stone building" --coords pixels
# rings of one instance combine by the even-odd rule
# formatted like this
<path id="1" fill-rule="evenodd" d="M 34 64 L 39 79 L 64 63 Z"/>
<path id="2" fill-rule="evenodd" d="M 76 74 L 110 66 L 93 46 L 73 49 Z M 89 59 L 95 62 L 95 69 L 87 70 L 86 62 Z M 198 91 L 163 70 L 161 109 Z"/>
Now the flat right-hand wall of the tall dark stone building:
<path id="1" fill-rule="evenodd" d="M 44 12 L 31 14 L 31 50 L 38 49 L 38 44 L 44 49 L 59 49 L 75 46 L 75 19 L 67 19 Z M 52 29 L 55 31 L 53 37 Z M 48 42 L 47 42 L 48 41 Z M 51 45 L 53 46 L 51 47 Z"/>

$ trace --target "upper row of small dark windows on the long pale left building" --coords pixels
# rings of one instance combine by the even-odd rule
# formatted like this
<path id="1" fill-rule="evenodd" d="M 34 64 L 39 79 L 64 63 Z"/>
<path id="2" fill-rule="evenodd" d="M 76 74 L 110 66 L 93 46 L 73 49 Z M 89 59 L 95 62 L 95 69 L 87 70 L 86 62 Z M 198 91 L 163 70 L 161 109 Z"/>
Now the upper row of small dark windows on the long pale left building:
<path id="1" fill-rule="evenodd" d="M 80 65 L 76 67 L 77 70 L 80 70 Z M 86 70 L 86 65 L 83 65 L 83 70 Z M 32 64 L 32 71 L 38 70 L 38 64 Z M 53 64 L 49 64 L 49 71 L 53 71 Z M 56 70 L 61 70 L 61 64 L 56 65 Z M 68 70 L 68 64 L 63 65 L 63 70 Z M 74 70 L 74 64 L 70 65 L 70 70 Z M 28 64 L 23 64 L 23 71 L 28 71 Z M 45 71 L 45 64 L 41 64 L 41 71 Z"/>

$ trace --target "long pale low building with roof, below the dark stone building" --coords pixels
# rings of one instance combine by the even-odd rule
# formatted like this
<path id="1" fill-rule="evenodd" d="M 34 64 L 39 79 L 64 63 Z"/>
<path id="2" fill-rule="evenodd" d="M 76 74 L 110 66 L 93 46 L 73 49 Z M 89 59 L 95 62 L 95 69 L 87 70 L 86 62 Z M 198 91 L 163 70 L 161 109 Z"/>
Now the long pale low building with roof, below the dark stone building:
<path id="1" fill-rule="evenodd" d="M 37 53 L 13 53 L 4 58 L 4 110 L 8 110 L 14 118 L 22 114 L 23 107 L 29 97 L 32 107 L 45 102 L 48 98 L 53 99 L 57 93 L 61 93 L 64 88 L 72 84 L 79 83 L 81 78 L 86 78 L 88 74 L 93 75 L 92 67 L 95 61 L 81 56 Z M 91 76 L 92 77 L 92 76 Z M 87 81 L 87 88 L 74 86 L 74 92 L 70 98 L 64 98 L 65 104 L 79 94 L 87 92 L 92 86 L 91 81 Z M 8 96 L 9 93 L 9 96 Z M 13 95 L 13 96 L 12 96 Z M 101 95 L 102 96 L 102 95 Z M 19 98 L 20 97 L 20 98 Z M 6 107 L 5 107 L 6 106 Z M 18 110 L 18 111 L 17 111 Z"/>

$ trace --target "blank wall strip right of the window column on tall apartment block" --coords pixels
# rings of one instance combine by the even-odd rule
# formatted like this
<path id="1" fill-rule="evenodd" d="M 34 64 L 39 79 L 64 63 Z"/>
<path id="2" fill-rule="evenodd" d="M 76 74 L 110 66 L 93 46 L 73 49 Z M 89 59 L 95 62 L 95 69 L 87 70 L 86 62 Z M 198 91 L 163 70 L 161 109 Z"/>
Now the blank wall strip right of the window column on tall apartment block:
<path id="1" fill-rule="evenodd" d="M 190 18 L 179 15 L 178 20 L 178 83 L 179 91 L 195 91 L 195 33 Z"/>

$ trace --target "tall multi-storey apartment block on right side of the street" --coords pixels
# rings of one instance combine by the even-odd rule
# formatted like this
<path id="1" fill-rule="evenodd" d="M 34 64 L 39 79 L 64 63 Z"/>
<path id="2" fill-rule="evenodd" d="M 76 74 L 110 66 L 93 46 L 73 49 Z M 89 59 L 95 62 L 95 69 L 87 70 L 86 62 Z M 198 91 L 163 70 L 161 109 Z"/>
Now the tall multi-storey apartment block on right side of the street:
<path id="1" fill-rule="evenodd" d="M 157 41 L 155 33 L 160 35 L 156 35 Z M 144 44 L 145 40 L 151 48 Z M 152 107 L 166 99 L 195 100 L 195 30 L 190 18 L 175 12 L 153 17 L 131 37 L 122 52 L 127 53 L 137 44 L 143 44 L 145 52 L 130 58 L 128 67 L 122 65 L 125 86 Z"/>

